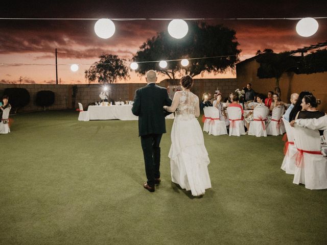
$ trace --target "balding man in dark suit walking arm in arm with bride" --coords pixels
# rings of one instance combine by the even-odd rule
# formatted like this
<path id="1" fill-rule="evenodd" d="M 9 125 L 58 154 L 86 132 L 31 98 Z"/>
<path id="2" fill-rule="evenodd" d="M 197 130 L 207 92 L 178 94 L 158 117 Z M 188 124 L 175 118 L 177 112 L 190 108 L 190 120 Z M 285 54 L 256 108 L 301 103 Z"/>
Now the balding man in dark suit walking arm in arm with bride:
<path id="1" fill-rule="evenodd" d="M 167 89 L 155 85 L 157 74 L 149 70 L 146 74 L 148 85 L 135 91 L 132 112 L 138 116 L 138 133 L 144 155 L 147 182 L 144 188 L 154 191 L 154 185 L 160 183 L 160 140 L 166 133 L 164 106 L 171 106 L 172 100 Z M 166 114 L 165 114 L 166 113 Z"/>

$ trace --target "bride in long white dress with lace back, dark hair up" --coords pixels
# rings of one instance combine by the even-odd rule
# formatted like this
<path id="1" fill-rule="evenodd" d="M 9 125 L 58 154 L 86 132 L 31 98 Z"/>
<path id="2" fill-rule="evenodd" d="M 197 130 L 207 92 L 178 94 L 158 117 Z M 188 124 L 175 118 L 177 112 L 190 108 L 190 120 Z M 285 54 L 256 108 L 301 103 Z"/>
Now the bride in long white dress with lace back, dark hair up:
<path id="1" fill-rule="evenodd" d="M 182 77 L 180 85 L 182 91 L 175 93 L 172 105 L 164 106 L 169 112 L 176 111 L 169 151 L 172 182 L 191 190 L 192 195 L 203 195 L 205 189 L 211 188 L 211 181 L 207 167 L 210 160 L 196 118 L 200 115 L 199 98 L 190 91 L 191 76 Z"/>

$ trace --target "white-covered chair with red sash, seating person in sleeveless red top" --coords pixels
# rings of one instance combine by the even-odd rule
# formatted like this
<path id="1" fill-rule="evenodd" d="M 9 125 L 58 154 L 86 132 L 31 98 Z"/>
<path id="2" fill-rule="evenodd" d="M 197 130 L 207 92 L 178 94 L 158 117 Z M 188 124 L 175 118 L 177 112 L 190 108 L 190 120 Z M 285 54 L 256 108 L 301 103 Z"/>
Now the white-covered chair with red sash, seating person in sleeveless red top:
<path id="1" fill-rule="evenodd" d="M 245 134 L 242 111 L 239 107 L 227 107 L 229 118 L 229 136 L 240 136 Z"/>

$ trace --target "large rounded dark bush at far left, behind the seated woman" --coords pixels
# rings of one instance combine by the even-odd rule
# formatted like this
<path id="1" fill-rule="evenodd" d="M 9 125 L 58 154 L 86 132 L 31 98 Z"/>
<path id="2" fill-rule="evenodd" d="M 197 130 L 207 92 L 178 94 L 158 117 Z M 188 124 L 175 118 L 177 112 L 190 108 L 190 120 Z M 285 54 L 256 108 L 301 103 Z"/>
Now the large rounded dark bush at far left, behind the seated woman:
<path id="1" fill-rule="evenodd" d="M 4 95 L 9 96 L 9 104 L 15 113 L 30 103 L 30 93 L 26 88 L 6 88 Z"/>

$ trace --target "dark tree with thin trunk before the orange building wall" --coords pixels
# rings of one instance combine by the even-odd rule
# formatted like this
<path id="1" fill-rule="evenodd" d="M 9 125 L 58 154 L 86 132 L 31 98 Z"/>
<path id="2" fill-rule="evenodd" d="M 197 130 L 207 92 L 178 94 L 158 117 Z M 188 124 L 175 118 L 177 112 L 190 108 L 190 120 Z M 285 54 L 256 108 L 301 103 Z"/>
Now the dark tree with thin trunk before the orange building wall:
<path id="1" fill-rule="evenodd" d="M 260 53 L 256 58 L 256 61 L 260 63 L 256 75 L 259 78 L 275 78 L 275 91 L 279 91 L 280 96 L 281 88 L 279 87 L 279 79 L 281 79 L 285 71 L 297 66 L 295 57 L 291 56 L 291 53 L 287 51 L 279 54 L 267 52 Z"/>

